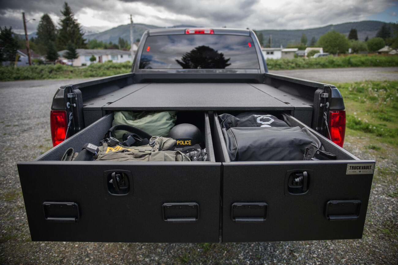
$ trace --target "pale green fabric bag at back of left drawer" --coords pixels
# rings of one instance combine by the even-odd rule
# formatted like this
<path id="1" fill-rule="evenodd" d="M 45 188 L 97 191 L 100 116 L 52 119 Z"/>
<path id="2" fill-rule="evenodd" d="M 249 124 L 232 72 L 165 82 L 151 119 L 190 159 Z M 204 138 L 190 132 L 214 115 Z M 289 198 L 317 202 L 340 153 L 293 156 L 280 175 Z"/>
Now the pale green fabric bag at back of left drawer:
<path id="1" fill-rule="evenodd" d="M 176 122 L 176 111 L 115 111 L 112 126 L 126 124 L 137 127 L 150 135 L 167 137 Z M 116 131 L 114 137 L 121 140 L 125 131 Z"/>

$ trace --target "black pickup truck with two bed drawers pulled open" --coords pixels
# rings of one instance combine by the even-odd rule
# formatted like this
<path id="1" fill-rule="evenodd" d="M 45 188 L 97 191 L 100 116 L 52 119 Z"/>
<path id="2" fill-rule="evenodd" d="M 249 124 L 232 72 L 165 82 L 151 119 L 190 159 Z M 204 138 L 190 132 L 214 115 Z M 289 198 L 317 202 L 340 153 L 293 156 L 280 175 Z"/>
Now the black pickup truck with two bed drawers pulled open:
<path id="1" fill-rule="evenodd" d="M 256 242 L 361 238 L 375 161 L 342 148 L 344 103 L 331 84 L 267 71 L 245 29 L 150 29 L 131 73 L 61 86 L 54 148 L 18 163 L 33 241 Z M 177 111 L 208 161 L 60 161 L 99 145 L 115 111 Z M 307 128 L 335 160 L 231 161 L 218 115 L 262 111 Z M 129 192 L 109 190 L 123 173 Z M 292 190 L 292 174 L 305 189 Z M 298 191 L 298 192 L 297 192 Z"/>

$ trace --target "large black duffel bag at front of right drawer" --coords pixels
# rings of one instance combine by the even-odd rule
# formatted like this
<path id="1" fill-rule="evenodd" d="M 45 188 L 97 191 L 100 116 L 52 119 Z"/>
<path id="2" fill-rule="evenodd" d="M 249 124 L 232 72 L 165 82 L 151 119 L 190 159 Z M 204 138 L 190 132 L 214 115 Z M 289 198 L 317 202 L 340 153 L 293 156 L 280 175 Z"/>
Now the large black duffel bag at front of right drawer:
<path id="1" fill-rule="evenodd" d="M 233 127 L 222 133 L 231 161 L 310 160 L 320 148 L 300 127 Z"/>

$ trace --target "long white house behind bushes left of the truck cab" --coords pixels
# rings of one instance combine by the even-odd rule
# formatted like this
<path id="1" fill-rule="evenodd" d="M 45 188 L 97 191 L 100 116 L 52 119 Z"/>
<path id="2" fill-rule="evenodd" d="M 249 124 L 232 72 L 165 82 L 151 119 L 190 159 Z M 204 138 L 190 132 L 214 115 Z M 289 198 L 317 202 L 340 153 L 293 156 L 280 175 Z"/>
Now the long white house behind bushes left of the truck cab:
<path id="1" fill-rule="evenodd" d="M 67 60 L 63 54 L 67 50 L 59 51 L 59 57 L 61 60 Z M 73 60 L 73 66 L 89 65 L 92 62 L 90 58 L 92 55 L 95 56 L 96 60 L 93 63 L 103 63 L 105 61 L 113 61 L 114 63 L 123 63 L 125 61 L 133 61 L 131 53 L 129 51 L 116 50 L 116 49 L 76 49 L 78 58 Z"/>

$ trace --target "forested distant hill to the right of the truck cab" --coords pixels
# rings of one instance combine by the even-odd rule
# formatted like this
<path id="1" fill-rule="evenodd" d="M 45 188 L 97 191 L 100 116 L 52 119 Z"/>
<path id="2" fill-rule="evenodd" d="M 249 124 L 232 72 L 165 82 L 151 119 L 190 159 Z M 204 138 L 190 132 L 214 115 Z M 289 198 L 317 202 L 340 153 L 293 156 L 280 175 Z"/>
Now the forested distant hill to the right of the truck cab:
<path id="1" fill-rule="evenodd" d="M 328 25 L 320 28 L 313 29 L 295 29 L 295 30 L 270 30 L 270 29 L 262 29 L 258 30 L 258 33 L 263 33 L 264 43 L 267 43 L 269 40 L 269 36 L 272 36 L 272 47 L 280 47 L 281 44 L 283 47 L 286 47 L 287 44 L 298 43 L 300 42 L 302 33 L 304 33 L 308 39 L 308 44 L 311 41 L 312 37 L 315 37 L 316 40 L 328 31 L 338 31 L 339 33 L 345 34 L 348 36 L 349 31 L 353 29 L 357 29 L 358 39 L 364 41 L 366 36 L 369 38 L 373 38 L 376 36 L 377 31 L 380 30 L 381 26 L 384 22 L 381 21 L 360 21 L 360 22 L 349 22 L 342 23 L 336 25 Z"/>

